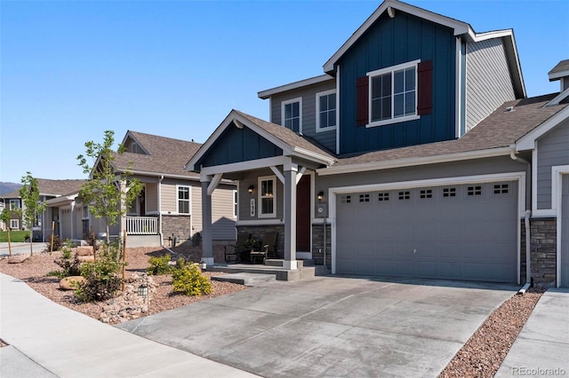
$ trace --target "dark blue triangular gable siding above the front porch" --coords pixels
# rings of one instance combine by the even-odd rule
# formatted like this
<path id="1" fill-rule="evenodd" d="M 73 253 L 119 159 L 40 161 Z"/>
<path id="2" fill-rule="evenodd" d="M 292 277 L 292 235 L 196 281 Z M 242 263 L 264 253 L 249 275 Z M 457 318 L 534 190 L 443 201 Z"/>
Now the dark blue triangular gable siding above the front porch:
<path id="1" fill-rule="evenodd" d="M 196 169 L 201 166 L 230 164 L 233 162 L 252 161 L 283 154 L 283 150 L 262 138 L 249 128 L 239 129 L 231 123 L 217 138 L 207 154 L 196 162 Z"/>

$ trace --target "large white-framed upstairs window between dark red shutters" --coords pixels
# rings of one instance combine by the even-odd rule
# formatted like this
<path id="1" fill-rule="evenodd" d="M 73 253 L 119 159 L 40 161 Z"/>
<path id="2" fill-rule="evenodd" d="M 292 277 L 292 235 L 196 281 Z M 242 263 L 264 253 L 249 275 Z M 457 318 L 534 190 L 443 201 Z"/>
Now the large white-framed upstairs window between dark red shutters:
<path id="1" fill-rule="evenodd" d="M 368 73 L 369 124 L 380 126 L 419 118 L 417 64 L 419 60 Z"/>

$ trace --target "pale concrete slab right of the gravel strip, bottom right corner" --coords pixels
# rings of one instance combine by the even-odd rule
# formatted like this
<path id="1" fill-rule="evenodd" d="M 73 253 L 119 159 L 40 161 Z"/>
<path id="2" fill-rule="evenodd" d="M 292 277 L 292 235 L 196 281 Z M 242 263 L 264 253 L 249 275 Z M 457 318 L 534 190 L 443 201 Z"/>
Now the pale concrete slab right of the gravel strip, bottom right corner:
<path id="1" fill-rule="evenodd" d="M 496 377 L 569 375 L 569 289 L 549 288 Z"/>

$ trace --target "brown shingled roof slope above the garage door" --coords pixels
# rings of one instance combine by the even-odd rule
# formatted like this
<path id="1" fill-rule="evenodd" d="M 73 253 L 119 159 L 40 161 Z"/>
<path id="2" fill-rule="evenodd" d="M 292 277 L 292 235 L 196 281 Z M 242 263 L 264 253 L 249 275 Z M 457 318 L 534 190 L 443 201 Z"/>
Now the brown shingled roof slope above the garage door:
<path id="1" fill-rule="evenodd" d="M 460 139 L 408 146 L 365 154 L 339 156 L 333 167 L 319 175 L 460 161 L 511 154 L 512 145 L 557 114 L 569 118 L 569 104 L 545 106 L 556 94 L 504 103 Z M 513 106 L 512 111 L 508 108 Z M 515 146 L 514 146 L 515 147 Z"/>

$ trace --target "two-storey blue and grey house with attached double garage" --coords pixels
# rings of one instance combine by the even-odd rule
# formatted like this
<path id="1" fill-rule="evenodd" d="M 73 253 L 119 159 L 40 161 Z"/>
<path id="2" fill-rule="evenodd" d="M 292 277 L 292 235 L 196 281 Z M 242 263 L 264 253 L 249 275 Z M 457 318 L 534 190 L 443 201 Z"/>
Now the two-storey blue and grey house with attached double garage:
<path id="1" fill-rule="evenodd" d="M 511 29 L 387 0 L 324 71 L 188 161 L 210 193 L 238 180 L 237 232 L 279 232 L 288 269 L 569 286 L 567 61 L 561 93 L 526 98 Z"/>

